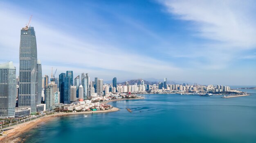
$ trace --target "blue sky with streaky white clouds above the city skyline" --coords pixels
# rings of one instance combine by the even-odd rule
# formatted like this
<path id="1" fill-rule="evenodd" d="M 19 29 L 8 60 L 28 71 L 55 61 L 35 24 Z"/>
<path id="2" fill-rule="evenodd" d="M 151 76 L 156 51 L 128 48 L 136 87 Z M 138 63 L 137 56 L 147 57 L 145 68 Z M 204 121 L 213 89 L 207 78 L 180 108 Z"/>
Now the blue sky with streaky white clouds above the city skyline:
<path id="1" fill-rule="evenodd" d="M 254 0 L 1 0 L 0 63 L 33 15 L 43 75 L 256 85 Z M 119 81 L 118 81 L 119 80 Z"/>

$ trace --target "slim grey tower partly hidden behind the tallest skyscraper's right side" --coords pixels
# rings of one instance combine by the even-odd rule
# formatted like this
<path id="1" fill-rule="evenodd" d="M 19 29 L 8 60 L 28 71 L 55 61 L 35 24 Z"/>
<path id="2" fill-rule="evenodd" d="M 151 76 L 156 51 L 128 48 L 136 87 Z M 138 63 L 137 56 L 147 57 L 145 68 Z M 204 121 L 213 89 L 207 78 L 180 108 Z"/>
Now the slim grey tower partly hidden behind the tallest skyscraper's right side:
<path id="1" fill-rule="evenodd" d="M 42 98 L 42 65 L 41 61 L 37 60 L 36 64 L 37 74 L 37 95 L 36 95 L 36 104 L 41 104 L 41 98 Z"/>

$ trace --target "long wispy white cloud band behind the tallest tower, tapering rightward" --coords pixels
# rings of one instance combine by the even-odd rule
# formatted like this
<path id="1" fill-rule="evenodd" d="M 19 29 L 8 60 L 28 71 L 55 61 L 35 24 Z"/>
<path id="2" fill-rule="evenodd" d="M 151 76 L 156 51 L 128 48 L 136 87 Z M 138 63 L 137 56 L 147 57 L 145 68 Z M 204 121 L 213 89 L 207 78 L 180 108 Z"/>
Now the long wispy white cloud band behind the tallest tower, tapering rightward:
<path id="1" fill-rule="evenodd" d="M 19 31 L 26 22 L 21 17 L 26 16 L 7 9 L 1 9 L 0 13 L 0 19 L 5 20 L 0 26 L 6 27 L 5 24 L 8 24 L 8 28 L 2 29 L 2 32 L 7 34 L 0 40 L 0 44 L 10 52 L 9 56 L 5 56 L 7 51 L 1 52 L 1 58 L 13 60 L 18 64 Z M 39 20 L 32 20 L 31 26 L 35 27 L 38 58 L 43 65 L 43 74 L 50 74 L 51 66 L 57 67 L 58 72 L 65 70 L 74 70 L 75 74 L 92 72 L 90 74 L 93 76 L 108 78 L 111 76 L 137 78 L 154 76 L 163 71 L 165 74 L 180 72 L 179 68 L 170 63 L 139 53 L 130 54 L 129 49 L 124 50 L 104 41 L 93 43 L 91 41 L 95 39 L 76 37 L 72 30 L 56 30 L 54 26 Z M 12 54 L 12 51 L 15 54 Z"/>

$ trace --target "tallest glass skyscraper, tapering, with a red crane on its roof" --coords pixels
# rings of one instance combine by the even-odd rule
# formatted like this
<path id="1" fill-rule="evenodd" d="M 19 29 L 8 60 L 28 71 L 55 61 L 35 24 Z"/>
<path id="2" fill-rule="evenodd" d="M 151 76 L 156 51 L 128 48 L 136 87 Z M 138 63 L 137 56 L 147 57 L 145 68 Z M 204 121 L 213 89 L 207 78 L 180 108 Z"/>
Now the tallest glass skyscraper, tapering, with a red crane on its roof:
<path id="1" fill-rule="evenodd" d="M 19 107 L 31 107 L 31 114 L 36 113 L 36 72 L 37 46 L 34 27 L 25 27 L 20 31 L 20 87 Z"/>

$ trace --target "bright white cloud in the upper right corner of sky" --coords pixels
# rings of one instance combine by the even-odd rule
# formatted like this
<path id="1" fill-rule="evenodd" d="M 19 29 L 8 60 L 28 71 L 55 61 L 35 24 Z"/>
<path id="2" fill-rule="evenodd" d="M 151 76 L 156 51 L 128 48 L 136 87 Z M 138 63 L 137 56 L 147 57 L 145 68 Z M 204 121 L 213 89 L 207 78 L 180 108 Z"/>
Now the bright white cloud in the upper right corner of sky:
<path id="1" fill-rule="evenodd" d="M 253 1 L 162 0 L 168 12 L 193 22 L 198 36 L 222 42 L 222 48 L 255 48 Z"/>

